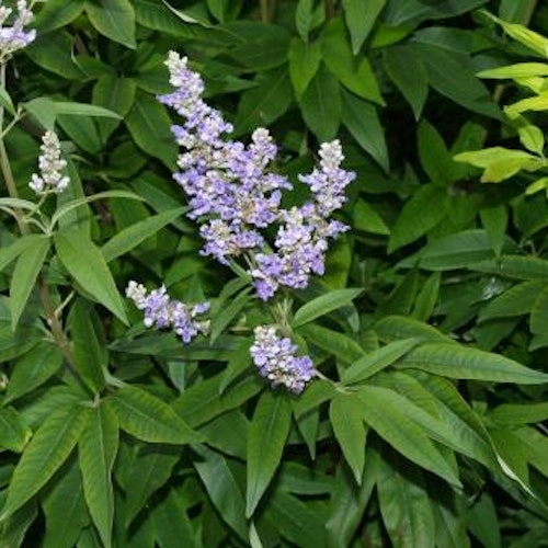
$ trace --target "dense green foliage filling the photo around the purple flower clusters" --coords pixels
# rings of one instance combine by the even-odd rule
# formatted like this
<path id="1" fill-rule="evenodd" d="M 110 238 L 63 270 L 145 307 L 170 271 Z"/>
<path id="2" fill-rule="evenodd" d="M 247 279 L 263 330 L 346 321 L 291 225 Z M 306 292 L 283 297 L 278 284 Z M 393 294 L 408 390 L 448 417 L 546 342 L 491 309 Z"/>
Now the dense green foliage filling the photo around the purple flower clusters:
<path id="1" fill-rule="evenodd" d="M 4 127 L 16 122 L 3 181 L 9 158 L 35 199 L 55 126 L 71 185 L 42 206 L 43 238 L 21 238 L 24 203 L 2 186 L 1 546 L 547 546 L 548 5 L 35 13 L 0 96 Z M 241 272 L 199 255 L 184 216 L 175 117 L 156 99 L 170 49 L 233 137 L 270 128 L 297 195 L 322 141 L 339 138 L 356 172 L 351 230 L 290 294 L 294 340 L 327 378 L 301 395 L 258 376 L 251 333 L 270 311 Z M 129 279 L 209 300 L 210 335 L 147 330 Z"/>

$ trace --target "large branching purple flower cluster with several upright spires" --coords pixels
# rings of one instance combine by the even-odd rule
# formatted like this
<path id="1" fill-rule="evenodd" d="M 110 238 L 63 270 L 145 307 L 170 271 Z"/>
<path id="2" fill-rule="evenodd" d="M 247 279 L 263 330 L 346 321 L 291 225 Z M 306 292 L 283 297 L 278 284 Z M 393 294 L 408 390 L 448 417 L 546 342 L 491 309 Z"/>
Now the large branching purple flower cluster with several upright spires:
<path id="1" fill-rule="evenodd" d="M 341 169 L 344 159 L 338 140 L 320 149 L 320 167 L 299 176 L 312 199 L 301 207 L 281 208 L 282 191 L 289 181 L 267 171 L 277 153 L 265 128 L 258 128 L 249 146 L 222 138 L 232 127 L 207 105 L 204 82 L 187 68 L 187 59 L 170 52 L 167 65 L 175 90 L 159 100 L 184 119 L 172 130 L 184 149 L 175 181 L 190 196 L 189 217 L 202 224 L 203 254 L 227 264 L 243 255 L 259 297 L 271 298 L 279 286 L 302 288 L 311 274 L 323 274 L 328 238 L 346 227 L 329 216 L 345 202 L 344 189 L 354 173 Z M 276 236 L 269 242 L 264 229 Z"/>

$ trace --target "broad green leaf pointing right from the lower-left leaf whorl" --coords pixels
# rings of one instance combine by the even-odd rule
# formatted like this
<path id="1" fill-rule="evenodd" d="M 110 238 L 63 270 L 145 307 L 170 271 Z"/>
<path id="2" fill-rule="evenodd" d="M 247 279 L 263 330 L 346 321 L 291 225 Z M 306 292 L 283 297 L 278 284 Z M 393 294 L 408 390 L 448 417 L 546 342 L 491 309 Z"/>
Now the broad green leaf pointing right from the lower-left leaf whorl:
<path id="1" fill-rule="evenodd" d="M 201 436 L 193 431 L 173 408 L 142 388 L 126 386 L 110 396 L 119 427 L 148 443 L 192 444 Z"/>

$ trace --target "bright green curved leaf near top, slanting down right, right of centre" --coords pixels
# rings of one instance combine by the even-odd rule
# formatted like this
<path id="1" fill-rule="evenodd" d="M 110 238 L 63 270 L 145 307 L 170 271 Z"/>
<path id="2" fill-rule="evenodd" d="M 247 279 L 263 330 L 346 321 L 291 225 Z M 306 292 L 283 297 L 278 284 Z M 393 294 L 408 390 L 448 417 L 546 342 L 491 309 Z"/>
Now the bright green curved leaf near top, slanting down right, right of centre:
<path id="1" fill-rule="evenodd" d="M 356 95 L 385 104 L 367 57 L 354 57 L 341 20 L 332 19 L 321 36 L 322 59 L 338 80 Z"/>

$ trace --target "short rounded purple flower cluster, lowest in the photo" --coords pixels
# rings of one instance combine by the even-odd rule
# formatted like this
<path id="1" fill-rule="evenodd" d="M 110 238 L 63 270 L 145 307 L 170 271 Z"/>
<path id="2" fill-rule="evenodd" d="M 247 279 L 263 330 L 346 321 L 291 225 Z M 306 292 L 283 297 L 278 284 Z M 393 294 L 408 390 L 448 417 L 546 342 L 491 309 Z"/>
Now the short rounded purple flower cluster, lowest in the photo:
<path id="1" fill-rule="evenodd" d="M 310 356 L 296 356 L 297 345 L 289 338 L 282 338 L 274 326 L 259 326 L 250 349 L 259 374 L 272 386 L 284 385 L 288 390 L 300 393 L 316 374 Z"/>

